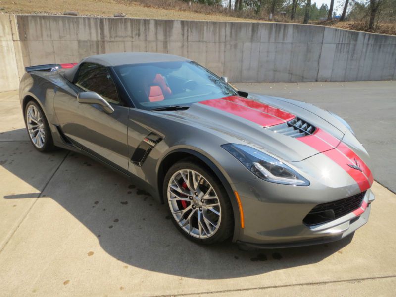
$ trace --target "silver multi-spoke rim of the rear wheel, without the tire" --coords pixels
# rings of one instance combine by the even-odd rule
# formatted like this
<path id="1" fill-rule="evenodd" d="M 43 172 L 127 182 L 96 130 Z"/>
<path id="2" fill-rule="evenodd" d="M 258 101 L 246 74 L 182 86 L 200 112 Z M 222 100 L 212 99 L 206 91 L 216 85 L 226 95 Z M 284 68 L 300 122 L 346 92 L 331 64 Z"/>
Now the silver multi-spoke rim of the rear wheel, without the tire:
<path id="1" fill-rule="evenodd" d="M 34 105 L 30 105 L 26 111 L 26 124 L 33 144 L 37 148 L 43 148 L 46 141 L 44 119 L 39 109 Z"/>

